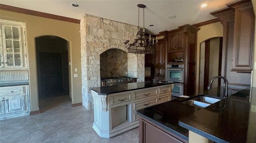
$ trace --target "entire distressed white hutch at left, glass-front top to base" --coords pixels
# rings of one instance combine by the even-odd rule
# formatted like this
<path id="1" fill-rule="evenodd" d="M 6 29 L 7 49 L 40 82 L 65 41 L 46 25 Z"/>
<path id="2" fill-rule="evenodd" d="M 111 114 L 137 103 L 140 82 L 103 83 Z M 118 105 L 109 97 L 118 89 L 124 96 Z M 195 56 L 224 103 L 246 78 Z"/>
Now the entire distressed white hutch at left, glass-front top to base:
<path id="1" fill-rule="evenodd" d="M 0 120 L 30 115 L 25 23 L 0 19 Z"/>

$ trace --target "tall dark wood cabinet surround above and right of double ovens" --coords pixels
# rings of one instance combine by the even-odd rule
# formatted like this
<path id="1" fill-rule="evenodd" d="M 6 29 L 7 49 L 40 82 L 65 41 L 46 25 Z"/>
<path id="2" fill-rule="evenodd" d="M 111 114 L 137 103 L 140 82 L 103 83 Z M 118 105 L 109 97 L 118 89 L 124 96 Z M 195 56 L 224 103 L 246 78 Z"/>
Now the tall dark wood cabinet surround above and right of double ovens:
<path id="1" fill-rule="evenodd" d="M 196 92 L 196 38 L 198 27 L 186 24 L 169 31 L 167 39 L 167 62 L 184 60 L 184 95 Z"/>

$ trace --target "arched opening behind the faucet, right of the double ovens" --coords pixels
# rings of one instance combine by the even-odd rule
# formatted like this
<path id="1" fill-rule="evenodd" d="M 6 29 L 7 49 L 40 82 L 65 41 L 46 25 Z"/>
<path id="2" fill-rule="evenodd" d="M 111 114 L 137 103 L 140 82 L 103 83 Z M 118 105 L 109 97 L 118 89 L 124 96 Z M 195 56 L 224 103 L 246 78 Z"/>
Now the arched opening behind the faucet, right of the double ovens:
<path id="1" fill-rule="evenodd" d="M 207 89 L 214 76 L 221 76 L 222 37 L 214 37 L 200 43 L 199 91 Z M 220 78 L 214 80 L 212 88 L 220 86 Z"/>

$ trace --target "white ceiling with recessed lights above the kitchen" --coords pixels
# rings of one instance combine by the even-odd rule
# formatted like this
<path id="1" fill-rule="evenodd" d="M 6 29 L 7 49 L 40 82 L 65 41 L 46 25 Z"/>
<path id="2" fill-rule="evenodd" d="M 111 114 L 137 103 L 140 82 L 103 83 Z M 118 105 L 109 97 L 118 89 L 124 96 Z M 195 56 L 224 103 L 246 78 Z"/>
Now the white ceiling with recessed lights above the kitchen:
<path id="1" fill-rule="evenodd" d="M 197 24 L 214 19 L 209 12 L 225 8 L 235 0 L 0 0 L 0 4 L 65 16 L 80 20 L 84 14 L 138 25 L 137 4 L 146 5 L 146 33 L 158 34 L 164 30 L 176 29 L 184 24 Z M 73 7 L 76 3 L 80 6 Z M 201 4 L 206 3 L 206 8 Z M 140 26 L 143 27 L 140 8 Z M 174 19 L 168 16 L 176 15 Z M 149 26 L 153 24 L 154 26 Z"/>

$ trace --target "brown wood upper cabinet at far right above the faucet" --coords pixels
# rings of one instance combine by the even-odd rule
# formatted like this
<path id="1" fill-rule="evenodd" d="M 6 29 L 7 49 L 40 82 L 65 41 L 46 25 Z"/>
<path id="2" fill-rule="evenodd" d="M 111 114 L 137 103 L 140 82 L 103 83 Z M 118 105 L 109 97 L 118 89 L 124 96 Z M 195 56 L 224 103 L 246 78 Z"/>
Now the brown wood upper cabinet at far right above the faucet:
<path id="1" fill-rule="evenodd" d="M 253 67 L 254 11 L 250 0 L 238 0 L 211 12 L 223 25 L 223 48 L 232 47 L 232 72 L 251 73 Z M 227 50 L 222 53 L 227 55 Z M 224 58 L 224 65 L 228 61 Z M 226 68 L 224 68 L 226 71 Z"/>

